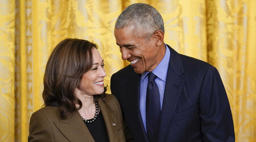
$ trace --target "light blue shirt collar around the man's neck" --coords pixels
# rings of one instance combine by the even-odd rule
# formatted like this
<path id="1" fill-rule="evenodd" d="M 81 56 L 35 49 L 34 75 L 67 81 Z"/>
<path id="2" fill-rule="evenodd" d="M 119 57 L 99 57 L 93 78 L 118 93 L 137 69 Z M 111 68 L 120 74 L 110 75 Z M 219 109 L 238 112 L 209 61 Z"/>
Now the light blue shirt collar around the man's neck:
<path id="1" fill-rule="evenodd" d="M 166 81 L 169 60 L 170 60 L 170 49 L 166 45 L 166 54 L 164 55 L 162 61 L 160 61 L 160 63 L 152 71 L 152 73 L 154 73 L 158 78 L 160 78 L 163 81 Z M 148 74 L 148 72 L 144 72 L 141 74 L 142 81 L 144 81 L 147 74 Z"/>

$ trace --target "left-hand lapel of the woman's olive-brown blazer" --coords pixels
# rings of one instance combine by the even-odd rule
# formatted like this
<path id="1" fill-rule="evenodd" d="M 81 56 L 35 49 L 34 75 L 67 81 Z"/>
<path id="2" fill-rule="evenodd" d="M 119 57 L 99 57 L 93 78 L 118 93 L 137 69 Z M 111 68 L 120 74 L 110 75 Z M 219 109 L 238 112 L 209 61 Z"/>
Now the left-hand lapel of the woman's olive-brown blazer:
<path id="1" fill-rule="evenodd" d="M 73 112 L 67 119 L 60 118 L 53 123 L 69 141 L 84 141 L 86 137 L 86 141 L 94 142 L 78 111 Z"/>

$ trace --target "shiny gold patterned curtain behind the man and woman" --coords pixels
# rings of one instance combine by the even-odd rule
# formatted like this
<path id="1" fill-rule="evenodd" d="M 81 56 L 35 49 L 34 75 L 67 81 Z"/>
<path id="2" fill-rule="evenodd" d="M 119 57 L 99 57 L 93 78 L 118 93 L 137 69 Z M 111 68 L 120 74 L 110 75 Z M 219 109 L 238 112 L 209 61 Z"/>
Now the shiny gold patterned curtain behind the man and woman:
<path id="1" fill-rule="evenodd" d="M 113 35 L 117 16 L 143 2 L 162 14 L 165 43 L 219 70 L 236 141 L 256 140 L 255 0 L 1 0 L 0 141 L 27 141 L 32 112 L 43 105 L 43 74 L 52 49 L 67 37 L 94 41 L 105 82 L 127 65 Z"/>

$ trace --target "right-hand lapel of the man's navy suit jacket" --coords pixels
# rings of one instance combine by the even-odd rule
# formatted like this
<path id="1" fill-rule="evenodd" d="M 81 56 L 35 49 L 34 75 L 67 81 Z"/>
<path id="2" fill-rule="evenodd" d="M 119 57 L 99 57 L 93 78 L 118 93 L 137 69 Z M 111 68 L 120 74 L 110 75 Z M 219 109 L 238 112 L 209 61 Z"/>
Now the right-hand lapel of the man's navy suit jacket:
<path id="1" fill-rule="evenodd" d="M 176 51 L 174 51 L 174 49 L 171 47 L 169 48 L 171 51 L 171 56 L 167 72 L 166 87 L 164 90 L 159 141 L 164 141 L 166 137 L 185 82 L 183 78 L 181 78 L 181 75 L 184 73 L 184 69 L 180 56 Z"/>

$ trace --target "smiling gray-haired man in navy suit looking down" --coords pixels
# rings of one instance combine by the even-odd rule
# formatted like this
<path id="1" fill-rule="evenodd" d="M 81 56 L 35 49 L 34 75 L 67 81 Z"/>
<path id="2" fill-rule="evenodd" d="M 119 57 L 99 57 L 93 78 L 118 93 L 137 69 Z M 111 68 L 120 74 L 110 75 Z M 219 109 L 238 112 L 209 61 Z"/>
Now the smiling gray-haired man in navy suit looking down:
<path id="1" fill-rule="evenodd" d="M 130 65 L 113 74 L 110 87 L 134 141 L 235 140 L 217 69 L 165 44 L 163 19 L 154 7 L 143 3 L 127 7 L 118 16 L 114 36 L 122 59 Z M 148 73 L 156 76 L 160 101 L 160 119 L 154 122 L 159 127 L 150 135 L 147 120 L 154 116 L 147 115 Z"/>

